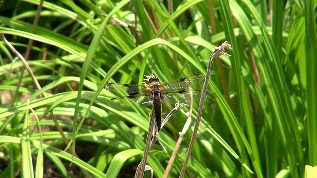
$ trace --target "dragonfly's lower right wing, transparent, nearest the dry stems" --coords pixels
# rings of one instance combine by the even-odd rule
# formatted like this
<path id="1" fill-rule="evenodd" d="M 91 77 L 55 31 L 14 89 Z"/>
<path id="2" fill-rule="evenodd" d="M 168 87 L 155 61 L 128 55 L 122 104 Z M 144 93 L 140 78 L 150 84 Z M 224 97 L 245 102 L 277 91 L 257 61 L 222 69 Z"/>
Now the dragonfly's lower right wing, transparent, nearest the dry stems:
<path id="1" fill-rule="evenodd" d="M 162 102 L 166 104 L 175 104 L 177 102 L 189 104 L 191 96 L 193 100 L 199 99 L 201 90 L 161 91 Z"/>

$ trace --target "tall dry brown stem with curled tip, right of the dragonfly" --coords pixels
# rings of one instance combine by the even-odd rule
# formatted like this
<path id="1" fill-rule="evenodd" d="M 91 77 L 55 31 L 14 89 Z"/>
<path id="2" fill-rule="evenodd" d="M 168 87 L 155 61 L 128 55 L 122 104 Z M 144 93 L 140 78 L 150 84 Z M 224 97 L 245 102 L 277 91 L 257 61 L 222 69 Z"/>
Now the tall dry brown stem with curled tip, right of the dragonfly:
<path id="1" fill-rule="evenodd" d="M 203 112 L 203 106 L 204 106 L 205 95 L 206 95 L 206 91 L 207 91 L 207 87 L 208 87 L 208 81 L 209 81 L 210 74 L 211 74 L 211 65 L 212 65 L 213 59 L 215 57 L 219 57 L 221 55 L 230 56 L 229 54 L 225 53 L 225 51 L 224 51 L 225 48 L 231 48 L 231 45 L 229 45 L 227 41 L 223 42 L 221 44 L 221 46 L 216 47 L 215 51 L 209 57 L 208 68 L 207 68 L 207 71 L 206 71 L 206 78 L 205 78 L 205 81 L 204 81 L 204 85 L 203 85 L 203 89 L 202 89 L 202 95 L 200 97 L 198 111 L 197 111 L 197 119 L 196 119 L 196 122 L 195 122 L 194 131 L 193 131 L 193 134 L 192 134 L 189 146 L 188 146 L 188 151 L 187 151 L 186 158 L 184 160 L 184 164 L 183 164 L 183 167 L 182 167 L 182 171 L 181 171 L 181 173 L 179 175 L 179 178 L 183 178 L 184 177 L 184 174 L 185 174 L 185 171 L 186 171 L 186 167 L 187 167 L 187 164 L 188 164 L 188 160 L 189 160 L 190 154 L 191 154 L 192 149 L 193 149 L 194 141 L 195 141 L 195 138 L 197 136 L 198 127 L 199 127 L 200 119 L 201 119 L 202 112 Z"/>

